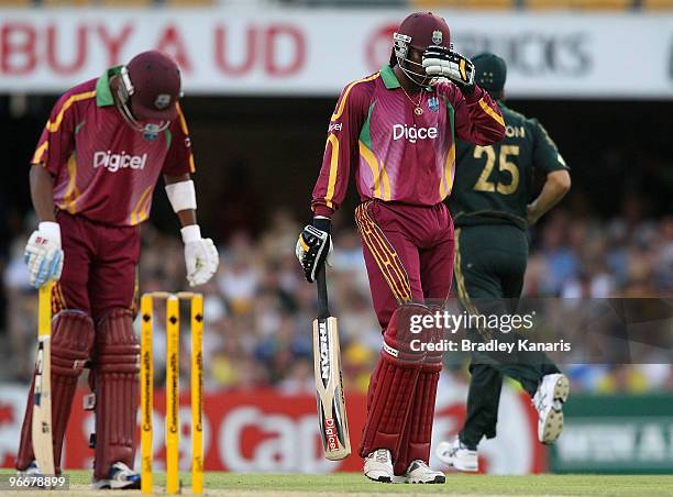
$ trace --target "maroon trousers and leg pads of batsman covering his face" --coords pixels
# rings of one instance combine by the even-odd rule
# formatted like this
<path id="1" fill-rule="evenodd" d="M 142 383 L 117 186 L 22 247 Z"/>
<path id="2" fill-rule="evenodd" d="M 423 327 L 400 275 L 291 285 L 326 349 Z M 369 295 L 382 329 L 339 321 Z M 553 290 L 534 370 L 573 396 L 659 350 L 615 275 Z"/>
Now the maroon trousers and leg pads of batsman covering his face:
<path id="1" fill-rule="evenodd" d="M 367 200 L 355 210 L 355 220 L 384 340 L 408 336 L 408 330 L 396 329 L 399 319 L 391 322 L 396 310 L 409 302 L 443 302 L 451 288 L 454 238 L 449 210 L 443 203 Z M 429 462 L 441 354 L 432 364 L 406 368 L 387 353 L 384 347 L 369 380 L 360 455 L 388 449 L 400 475 L 415 460 Z"/>

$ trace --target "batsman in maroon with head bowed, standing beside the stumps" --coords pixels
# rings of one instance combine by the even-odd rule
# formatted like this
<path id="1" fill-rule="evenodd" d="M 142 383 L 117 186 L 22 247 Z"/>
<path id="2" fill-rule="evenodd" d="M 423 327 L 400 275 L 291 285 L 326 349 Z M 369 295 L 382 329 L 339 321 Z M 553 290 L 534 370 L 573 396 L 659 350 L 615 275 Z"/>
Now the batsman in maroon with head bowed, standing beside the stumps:
<path id="1" fill-rule="evenodd" d="M 159 176 L 183 225 L 189 284 L 205 284 L 218 267 L 212 240 L 201 238 L 196 220 L 194 156 L 180 95 L 180 73 L 170 57 L 139 54 L 60 97 L 32 159 L 40 225 L 25 262 L 35 287 L 58 281 L 52 295 L 54 462 L 59 473 L 77 379 L 90 362 L 95 488 L 140 488 L 133 471 L 140 365 L 134 292 L 140 225 L 150 217 Z M 16 468 L 38 474 L 31 420 L 29 397 Z"/>

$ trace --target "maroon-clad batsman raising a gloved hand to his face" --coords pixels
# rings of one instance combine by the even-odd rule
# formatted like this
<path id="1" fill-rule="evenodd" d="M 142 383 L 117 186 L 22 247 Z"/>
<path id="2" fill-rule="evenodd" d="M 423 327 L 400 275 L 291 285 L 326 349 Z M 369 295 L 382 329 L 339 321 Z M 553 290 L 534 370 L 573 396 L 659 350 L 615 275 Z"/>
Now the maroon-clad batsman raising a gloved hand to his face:
<path id="1" fill-rule="evenodd" d="M 364 474 L 377 482 L 444 483 L 428 466 L 441 352 L 418 352 L 409 312 L 430 313 L 451 287 L 453 223 L 442 202 L 454 176 L 455 140 L 490 145 L 505 124 L 474 66 L 454 52 L 446 22 L 413 13 L 394 35 L 390 64 L 347 85 L 329 124 L 313 189 L 312 225 L 297 255 L 313 281 L 331 252 L 330 217 L 353 172 L 362 238 L 384 344 L 367 395 L 360 446 Z M 328 261 L 329 262 L 329 261 Z M 440 330 L 430 330 L 438 338 Z"/>

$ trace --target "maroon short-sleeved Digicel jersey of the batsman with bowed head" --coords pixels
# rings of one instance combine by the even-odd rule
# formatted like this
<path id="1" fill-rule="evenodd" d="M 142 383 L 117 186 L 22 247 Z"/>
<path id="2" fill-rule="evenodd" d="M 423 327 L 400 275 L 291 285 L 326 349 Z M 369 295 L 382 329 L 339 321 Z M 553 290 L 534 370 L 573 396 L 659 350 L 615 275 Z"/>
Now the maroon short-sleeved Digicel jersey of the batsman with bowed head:
<path id="1" fill-rule="evenodd" d="M 32 164 L 54 176 L 54 203 L 107 225 L 140 224 L 150 217 L 159 174 L 194 173 L 189 131 L 178 119 L 153 135 L 133 130 L 114 106 L 110 77 L 68 90 L 46 123 Z"/>

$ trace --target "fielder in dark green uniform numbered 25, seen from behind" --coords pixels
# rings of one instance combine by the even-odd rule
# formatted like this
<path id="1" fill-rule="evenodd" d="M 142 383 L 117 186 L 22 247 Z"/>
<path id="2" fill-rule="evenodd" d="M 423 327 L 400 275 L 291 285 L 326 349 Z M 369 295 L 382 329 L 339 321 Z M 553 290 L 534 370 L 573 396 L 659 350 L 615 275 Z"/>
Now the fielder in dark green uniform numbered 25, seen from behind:
<path id="1" fill-rule="evenodd" d="M 477 55 L 473 62 L 476 81 L 498 100 L 506 137 L 489 146 L 456 143 L 456 172 L 449 200 L 455 224 L 454 279 L 461 305 L 467 311 L 484 312 L 475 302 L 490 299 L 512 312 L 521 295 L 528 259 L 526 230 L 561 200 L 571 179 L 542 124 L 503 103 L 505 62 L 490 53 Z M 547 180 L 530 202 L 533 170 L 545 175 Z M 465 424 L 455 440 L 438 445 L 437 455 L 442 462 L 460 471 L 478 471 L 477 445 L 483 437 L 496 435 L 505 375 L 518 380 L 533 398 L 540 442 L 553 443 L 559 438 L 569 383 L 549 357 L 538 354 L 527 361 L 473 355 Z"/>

